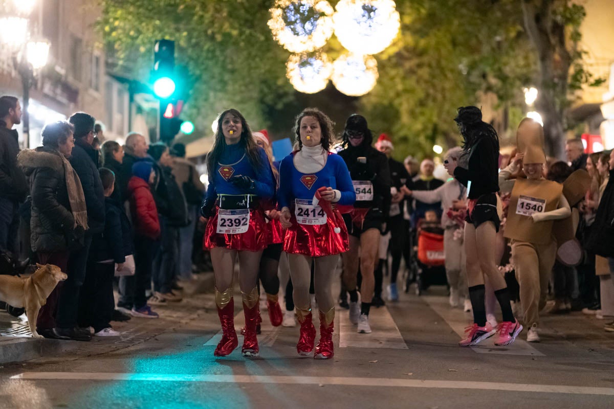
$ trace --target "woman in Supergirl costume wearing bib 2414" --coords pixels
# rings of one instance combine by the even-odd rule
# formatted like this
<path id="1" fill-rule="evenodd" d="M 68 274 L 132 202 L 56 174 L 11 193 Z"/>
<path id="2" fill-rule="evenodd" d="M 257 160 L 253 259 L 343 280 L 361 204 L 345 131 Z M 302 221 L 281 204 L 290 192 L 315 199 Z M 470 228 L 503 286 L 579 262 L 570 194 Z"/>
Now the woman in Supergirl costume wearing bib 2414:
<path id="1" fill-rule="evenodd" d="M 320 341 L 315 359 L 333 357 L 335 299 L 332 282 L 338 254 L 348 251 L 348 230 L 338 205 L 356 200 L 348 167 L 340 156 L 330 153 L 332 122 L 317 109 L 298 115 L 294 132 L 298 151 L 286 156 L 279 167 L 278 206 L 286 231 L 293 299 L 301 324 L 297 351 L 308 356 L 314 348 L 316 329 L 312 323 L 309 282 L 314 262 L 314 287 L 320 315 Z"/>

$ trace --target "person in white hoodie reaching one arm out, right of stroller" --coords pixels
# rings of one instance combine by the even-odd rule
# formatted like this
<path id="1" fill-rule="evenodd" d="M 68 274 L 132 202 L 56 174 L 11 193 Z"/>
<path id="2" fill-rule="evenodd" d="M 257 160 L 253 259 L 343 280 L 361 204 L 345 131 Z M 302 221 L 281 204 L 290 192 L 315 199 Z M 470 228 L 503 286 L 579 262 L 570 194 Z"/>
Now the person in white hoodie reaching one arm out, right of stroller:
<path id="1" fill-rule="evenodd" d="M 444 156 L 460 158 L 462 150 L 459 147 L 451 148 Z M 443 248 L 445 251 L 445 266 L 448 284 L 450 286 L 450 305 L 458 307 L 459 300 L 464 299 L 464 309 L 471 309 L 471 302 L 467 292 L 467 266 L 465 261 L 464 240 L 462 234 L 455 234 L 464 226 L 464 217 L 455 218 L 454 213 L 467 206 L 467 188 L 458 180 L 452 178 L 435 190 L 412 190 L 414 199 L 424 203 L 441 202 L 441 227 L 445 229 Z M 462 212 L 464 216 L 464 212 Z M 457 221 L 459 220 L 459 221 Z"/>

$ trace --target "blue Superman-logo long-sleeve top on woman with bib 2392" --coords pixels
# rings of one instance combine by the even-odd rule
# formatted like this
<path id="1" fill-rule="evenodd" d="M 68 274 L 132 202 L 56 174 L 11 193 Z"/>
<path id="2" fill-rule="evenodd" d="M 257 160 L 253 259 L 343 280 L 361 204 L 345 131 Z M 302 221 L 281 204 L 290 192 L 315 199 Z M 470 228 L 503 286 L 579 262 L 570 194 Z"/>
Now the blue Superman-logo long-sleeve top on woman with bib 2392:
<path id="1" fill-rule="evenodd" d="M 209 174 L 207 199 L 215 201 L 218 194 L 254 194 L 268 199 L 275 193 L 275 181 L 271 164 L 263 148 L 258 147 L 261 169 L 254 169 L 249 162 L 245 147 L 241 143 L 226 145 L 216 164 L 216 170 Z M 253 189 L 241 189 L 228 182 L 233 176 L 249 176 L 254 180 Z"/>

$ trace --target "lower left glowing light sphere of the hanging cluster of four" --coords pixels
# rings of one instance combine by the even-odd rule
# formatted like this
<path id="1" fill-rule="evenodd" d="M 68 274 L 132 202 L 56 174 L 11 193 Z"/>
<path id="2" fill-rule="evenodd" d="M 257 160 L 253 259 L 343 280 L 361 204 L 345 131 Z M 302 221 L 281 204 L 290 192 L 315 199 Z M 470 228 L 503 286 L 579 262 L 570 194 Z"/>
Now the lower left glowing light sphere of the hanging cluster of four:
<path id="1" fill-rule="evenodd" d="M 286 63 L 286 77 L 295 90 L 314 94 L 324 90 L 333 73 L 333 64 L 325 53 L 293 54 Z"/>

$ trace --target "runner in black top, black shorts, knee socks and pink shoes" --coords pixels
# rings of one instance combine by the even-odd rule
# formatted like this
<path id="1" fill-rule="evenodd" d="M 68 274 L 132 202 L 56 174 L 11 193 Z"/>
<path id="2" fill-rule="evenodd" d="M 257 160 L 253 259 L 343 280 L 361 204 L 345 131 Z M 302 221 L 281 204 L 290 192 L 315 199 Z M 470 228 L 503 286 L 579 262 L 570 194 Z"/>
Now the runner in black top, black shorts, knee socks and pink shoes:
<path id="1" fill-rule="evenodd" d="M 467 186 L 468 209 L 465 220 L 465 252 L 467 253 L 467 284 L 473 310 L 473 324 L 459 342 L 471 346 L 499 332 L 495 345 L 508 345 L 523 327 L 511 311 L 510 294 L 503 275 L 495 262 L 495 236 L 499 231 L 499 136 L 482 121 L 478 107 L 461 107 L 454 121 L 464 138 L 461 158 L 467 158 L 467 168 L 458 166 L 457 158 L 445 162 L 448 174 Z M 479 250 L 478 250 L 479 249 Z M 495 330 L 486 321 L 484 275 L 495 290 L 503 322 Z"/>

